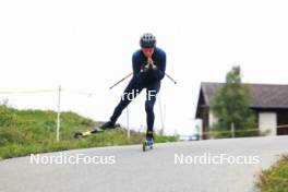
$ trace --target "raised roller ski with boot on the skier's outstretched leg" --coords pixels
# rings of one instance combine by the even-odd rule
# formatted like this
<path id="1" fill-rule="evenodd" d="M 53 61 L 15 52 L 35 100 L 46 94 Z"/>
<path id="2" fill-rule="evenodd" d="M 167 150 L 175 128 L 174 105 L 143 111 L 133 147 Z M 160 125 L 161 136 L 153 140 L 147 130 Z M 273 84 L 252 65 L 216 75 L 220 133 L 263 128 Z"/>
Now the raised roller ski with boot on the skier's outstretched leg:
<path id="1" fill-rule="evenodd" d="M 120 124 L 115 124 L 115 123 L 108 121 L 108 122 L 104 123 L 100 127 L 93 127 L 88 131 L 75 131 L 73 137 L 74 139 L 85 137 L 85 136 L 88 136 L 91 134 L 101 133 L 101 132 L 104 132 L 105 130 L 108 130 L 108 129 L 115 129 L 116 127 L 119 127 L 119 125 Z"/>

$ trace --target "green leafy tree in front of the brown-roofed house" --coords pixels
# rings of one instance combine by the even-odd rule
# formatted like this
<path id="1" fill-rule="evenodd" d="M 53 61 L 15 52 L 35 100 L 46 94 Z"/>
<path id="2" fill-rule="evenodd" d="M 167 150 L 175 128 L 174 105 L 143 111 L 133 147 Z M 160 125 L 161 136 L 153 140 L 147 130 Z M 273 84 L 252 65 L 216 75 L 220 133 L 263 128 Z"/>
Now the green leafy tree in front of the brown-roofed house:
<path id="1" fill-rule="evenodd" d="M 247 132 L 247 129 L 256 127 L 255 116 L 249 107 L 249 89 L 241 83 L 241 69 L 233 67 L 226 75 L 226 83 L 217 91 L 212 111 L 218 119 L 215 130 L 230 131 L 231 124 L 236 136 L 255 135 L 256 132 Z M 216 137 L 230 136 L 230 133 L 218 134 Z"/>

